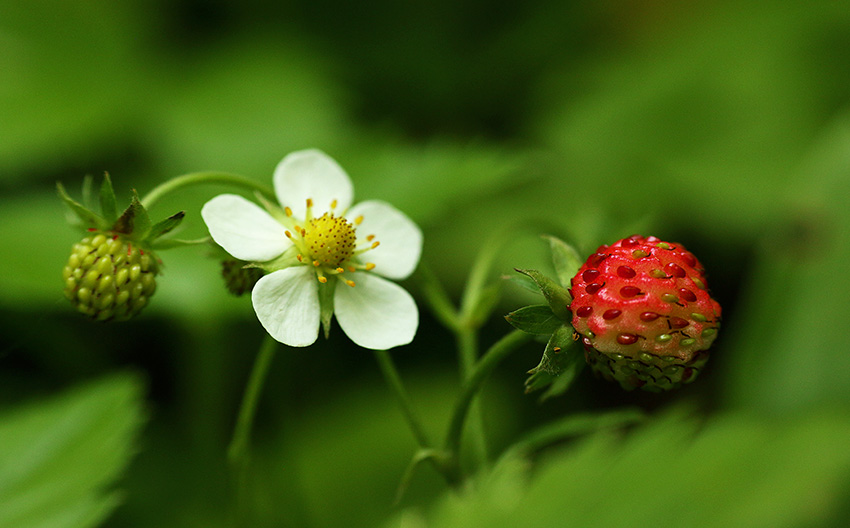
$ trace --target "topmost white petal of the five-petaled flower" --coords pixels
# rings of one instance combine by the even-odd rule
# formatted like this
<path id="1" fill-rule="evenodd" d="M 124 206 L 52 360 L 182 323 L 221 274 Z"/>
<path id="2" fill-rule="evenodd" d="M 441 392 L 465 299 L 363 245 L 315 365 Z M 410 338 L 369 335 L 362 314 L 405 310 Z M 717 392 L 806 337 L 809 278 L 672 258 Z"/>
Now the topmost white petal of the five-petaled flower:
<path id="1" fill-rule="evenodd" d="M 307 199 L 313 200 L 313 215 L 351 205 L 354 187 L 348 174 L 330 156 L 320 150 L 299 150 L 283 158 L 274 171 L 274 190 L 282 206 L 292 209 L 293 216 L 304 219 Z"/>

